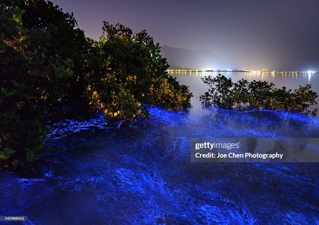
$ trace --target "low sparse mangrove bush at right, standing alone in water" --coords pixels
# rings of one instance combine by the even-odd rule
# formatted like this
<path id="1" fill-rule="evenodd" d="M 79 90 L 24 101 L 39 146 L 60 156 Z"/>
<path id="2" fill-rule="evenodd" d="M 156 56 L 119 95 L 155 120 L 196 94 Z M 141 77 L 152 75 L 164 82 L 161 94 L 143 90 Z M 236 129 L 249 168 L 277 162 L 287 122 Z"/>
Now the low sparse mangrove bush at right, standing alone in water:
<path id="1" fill-rule="evenodd" d="M 200 96 L 203 104 L 226 109 L 272 109 L 292 110 L 310 113 L 309 107 L 316 105 L 317 93 L 310 90 L 311 85 L 292 92 L 286 87 L 274 88 L 266 81 L 247 81 L 241 79 L 233 83 L 231 78 L 218 74 L 216 77 L 205 76 L 202 81 L 210 88 Z M 317 109 L 312 110 L 316 114 Z"/>

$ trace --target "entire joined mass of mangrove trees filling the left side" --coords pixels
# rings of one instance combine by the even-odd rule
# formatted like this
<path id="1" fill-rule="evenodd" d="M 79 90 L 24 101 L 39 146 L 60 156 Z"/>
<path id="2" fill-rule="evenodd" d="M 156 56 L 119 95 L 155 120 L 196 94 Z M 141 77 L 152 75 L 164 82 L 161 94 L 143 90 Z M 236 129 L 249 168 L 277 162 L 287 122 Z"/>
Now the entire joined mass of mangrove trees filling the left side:
<path id="1" fill-rule="evenodd" d="M 99 41 L 85 38 L 73 14 L 44 0 L 0 4 L 0 168 L 34 165 L 46 124 L 65 108 L 102 110 L 132 124 L 144 106 L 189 106 L 188 87 L 168 75 L 159 44 L 145 31 L 104 23 Z M 51 147 L 48 147 L 51 151 Z"/>

